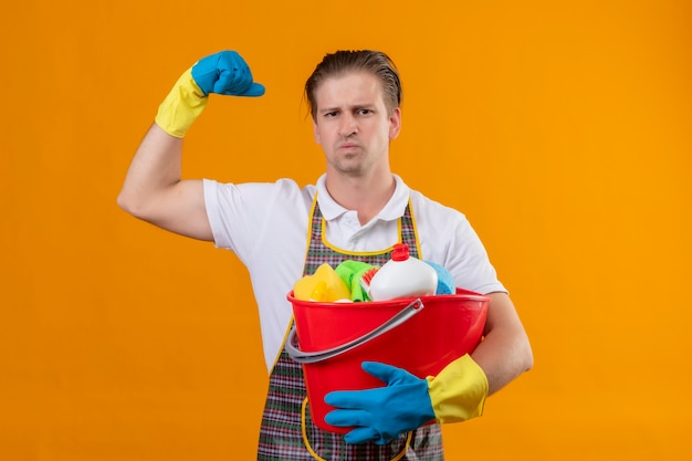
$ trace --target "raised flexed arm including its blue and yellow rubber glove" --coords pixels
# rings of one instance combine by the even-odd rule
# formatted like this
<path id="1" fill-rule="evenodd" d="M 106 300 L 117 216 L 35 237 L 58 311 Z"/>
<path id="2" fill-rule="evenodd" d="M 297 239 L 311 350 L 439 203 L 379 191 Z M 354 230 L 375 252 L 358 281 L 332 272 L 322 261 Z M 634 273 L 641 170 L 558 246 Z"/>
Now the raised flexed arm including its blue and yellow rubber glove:
<path id="1" fill-rule="evenodd" d="M 209 93 L 261 96 L 264 86 L 234 51 L 199 60 L 180 75 L 159 106 L 129 167 L 117 202 L 125 211 L 162 229 L 213 240 L 203 182 L 181 180 L 182 138 L 207 105 Z"/>

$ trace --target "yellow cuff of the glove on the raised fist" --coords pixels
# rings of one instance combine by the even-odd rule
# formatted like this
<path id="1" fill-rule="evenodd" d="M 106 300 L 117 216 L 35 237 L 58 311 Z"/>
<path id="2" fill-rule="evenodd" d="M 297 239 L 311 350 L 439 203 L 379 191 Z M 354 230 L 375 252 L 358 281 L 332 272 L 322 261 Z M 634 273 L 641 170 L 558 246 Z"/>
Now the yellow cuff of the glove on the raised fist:
<path id="1" fill-rule="evenodd" d="M 188 69 L 159 106 L 154 121 L 169 135 L 182 138 L 207 106 L 208 99 L 195 83 L 191 69 Z"/>

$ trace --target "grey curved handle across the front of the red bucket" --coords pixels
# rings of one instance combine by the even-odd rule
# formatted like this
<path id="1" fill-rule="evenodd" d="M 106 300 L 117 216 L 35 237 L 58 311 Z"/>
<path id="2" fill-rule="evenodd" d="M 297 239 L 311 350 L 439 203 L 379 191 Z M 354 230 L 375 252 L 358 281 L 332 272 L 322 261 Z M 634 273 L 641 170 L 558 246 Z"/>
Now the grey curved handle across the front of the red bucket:
<path id="1" fill-rule="evenodd" d="M 364 307 L 364 308 L 367 308 L 367 307 Z M 291 332 L 289 332 L 289 336 L 286 337 L 286 344 L 285 344 L 286 353 L 293 360 L 300 364 L 314 364 L 317 362 L 323 362 L 323 360 L 336 357 L 338 355 L 342 355 L 371 339 L 375 339 L 376 337 L 380 335 L 384 335 L 390 329 L 396 328 L 397 326 L 407 322 L 409 318 L 411 318 L 413 315 L 418 314 L 422 310 L 423 310 L 423 302 L 420 301 L 420 298 L 417 298 L 411 304 L 407 305 L 401 311 L 392 315 L 388 321 L 382 323 L 380 326 L 374 328 L 373 331 L 366 333 L 365 335 L 356 339 L 349 340 L 348 343 L 342 344 L 340 346 L 332 347 L 329 349 L 324 349 L 324 350 L 315 350 L 315 352 L 303 352 L 297 348 L 297 346 L 294 344 L 296 331 L 295 331 L 295 325 L 293 325 L 293 327 L 291 328 Z"/>

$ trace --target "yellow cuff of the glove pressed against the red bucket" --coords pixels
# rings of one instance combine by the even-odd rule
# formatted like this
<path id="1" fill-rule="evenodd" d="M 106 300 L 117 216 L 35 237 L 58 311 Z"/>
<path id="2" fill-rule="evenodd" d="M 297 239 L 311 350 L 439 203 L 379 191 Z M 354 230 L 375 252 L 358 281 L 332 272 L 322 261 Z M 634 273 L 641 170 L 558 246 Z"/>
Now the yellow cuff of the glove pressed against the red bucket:
<path id="1" fill-rule="evenodd" d="M 459 422 L 483 415 L 487 377 L 469 354 L 429 376 L 428 392 L 438 422 Z"/>

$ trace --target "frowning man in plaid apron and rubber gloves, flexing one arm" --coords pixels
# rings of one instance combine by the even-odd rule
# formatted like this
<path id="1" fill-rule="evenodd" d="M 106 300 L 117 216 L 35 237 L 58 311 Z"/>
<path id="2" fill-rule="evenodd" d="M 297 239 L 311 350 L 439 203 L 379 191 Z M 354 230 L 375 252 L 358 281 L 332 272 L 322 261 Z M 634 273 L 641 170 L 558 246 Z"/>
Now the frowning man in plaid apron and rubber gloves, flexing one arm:
<path id="1" fill-rule="evenodd" d="M 303 188 L 289 179 L 180 179 L 182 138 L 210 93 L 261 96 L 264 87 L 235 52 L 197 62 L 160 105 L 118 203 L 164 229 L 230 249 L 248 266 L 271 373 L 258 459 L 442 459 L 440 427 L 428 422 L 480 416 L 485 397 L 530 369 L 533 356 L 514 305 L 463 214 L 409 189 L 390 170 L 402 95 L 394 63 L 381 52 L 338 51 L 317 65 L 305 93 L 326 172 Z M 325 262 L 384 264 L 397 242 L 449 270 L 458 286 L 490 296 L 484 340 L 427 379 L 364 364 L 384 386 L 327 395 L 337 408 L 327 422 L 355 429 L 345 437 L 323 431 L 310 420 L 301 366 L 283 350 L 292 323 L 286 293 Z"/>

